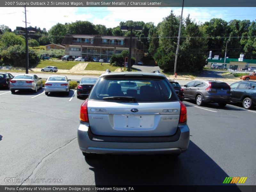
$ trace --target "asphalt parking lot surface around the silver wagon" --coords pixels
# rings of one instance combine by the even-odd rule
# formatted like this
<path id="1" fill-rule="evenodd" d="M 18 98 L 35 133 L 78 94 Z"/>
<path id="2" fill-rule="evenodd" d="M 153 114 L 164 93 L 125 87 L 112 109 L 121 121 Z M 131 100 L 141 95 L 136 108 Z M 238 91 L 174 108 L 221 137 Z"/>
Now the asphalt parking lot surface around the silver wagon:
<path id="1" fill-rule="evenodd" d="M 178 158 L 108 155 L 85 161 L 76 139 L 82 102 L 75 90 L 68 96 L 0 90 L 0 185 L 22 184 L 7 177 L 62 180 L 23 183 L 29 185 L 221 185 L 225 177 L 247 177 L 246 185 L 256 185 L 255 107 L 198 107 L 185 100 L 190 143 Z"/>

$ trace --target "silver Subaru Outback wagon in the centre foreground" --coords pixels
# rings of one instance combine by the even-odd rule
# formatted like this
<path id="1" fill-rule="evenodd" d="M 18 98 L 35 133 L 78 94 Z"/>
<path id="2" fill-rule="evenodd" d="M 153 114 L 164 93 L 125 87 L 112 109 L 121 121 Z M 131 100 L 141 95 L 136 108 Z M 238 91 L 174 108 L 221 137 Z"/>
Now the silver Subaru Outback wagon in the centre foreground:
<path id="1" fill-rule="evenodd" d="M 136 89 L 123 89 L 136 83 Z M 187 109 L 166 77 L 102 74 L 81 105 L 78 144 L 93 154 L 173 154 L 188 148 Z"/>

